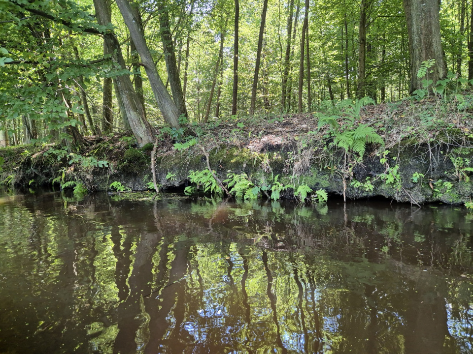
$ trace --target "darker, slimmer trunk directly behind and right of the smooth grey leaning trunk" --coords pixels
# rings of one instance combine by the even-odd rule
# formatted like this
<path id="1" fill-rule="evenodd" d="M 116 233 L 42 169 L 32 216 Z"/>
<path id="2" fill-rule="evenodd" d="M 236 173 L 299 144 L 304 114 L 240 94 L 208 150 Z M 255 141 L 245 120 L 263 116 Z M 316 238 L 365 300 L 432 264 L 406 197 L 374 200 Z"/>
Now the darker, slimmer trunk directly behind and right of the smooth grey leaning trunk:
<path id="1" fill-rule="evenodd" d="M 184 115 L 187 118 L 187 109 L 184 102 L 184 95 L 181 87 L 181 79 L 177 70 L 176 54 L 174 52 L 174 41 L 172 40 L 171 30 L 169 29 L 169 11 L 167 4 L 163 1 L 159 6 L 159 23 L 161 26 L 161 40 L 163 41 L 164 59 L 166 61 L 166 70 L 168 71 L 169 85 L 171 87 L 172 99 L 177 106 L 178 115 Z M 144 39 L 144 33 L 141 32 Z M 157 71 L 156 71 L 157 72 Z"/>

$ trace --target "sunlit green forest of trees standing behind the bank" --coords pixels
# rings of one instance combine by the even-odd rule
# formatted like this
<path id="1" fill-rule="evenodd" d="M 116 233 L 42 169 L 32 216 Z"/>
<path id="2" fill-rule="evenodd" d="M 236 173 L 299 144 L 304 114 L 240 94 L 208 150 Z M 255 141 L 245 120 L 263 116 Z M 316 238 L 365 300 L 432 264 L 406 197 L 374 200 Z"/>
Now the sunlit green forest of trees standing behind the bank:
<path id="1" fill-rule="evenodd" d="M 462 93 L 472 29 L 467 0 L 1 0 L 1 145 Z"/>

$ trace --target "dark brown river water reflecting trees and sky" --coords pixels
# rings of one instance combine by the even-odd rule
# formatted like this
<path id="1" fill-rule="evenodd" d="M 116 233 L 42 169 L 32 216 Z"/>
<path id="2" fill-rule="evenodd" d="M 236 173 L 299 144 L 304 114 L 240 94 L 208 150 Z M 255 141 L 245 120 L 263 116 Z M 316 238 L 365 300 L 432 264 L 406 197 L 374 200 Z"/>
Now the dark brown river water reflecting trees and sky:
<path id="1" fill-rule="evenodd" d="M 0 198 L 0 353 L 473 353 L 473 215 Z"/>

